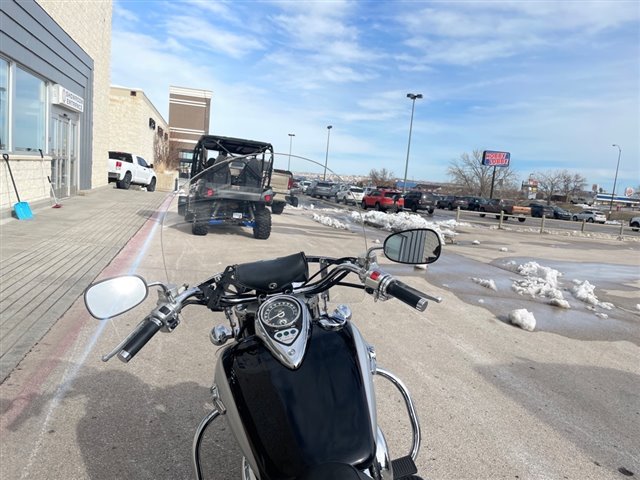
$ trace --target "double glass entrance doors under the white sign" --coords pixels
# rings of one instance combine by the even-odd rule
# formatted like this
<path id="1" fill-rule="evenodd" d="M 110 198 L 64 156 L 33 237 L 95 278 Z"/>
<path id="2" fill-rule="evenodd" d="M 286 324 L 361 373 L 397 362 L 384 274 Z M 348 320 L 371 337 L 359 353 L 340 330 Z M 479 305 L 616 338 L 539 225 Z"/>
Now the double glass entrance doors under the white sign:
<path id="1" fill-rule="evenodd" d="M 49 135 L 51 184 L 57 198 L 78 191 L 78 120 L 77 113 L 52 106 Z"/>

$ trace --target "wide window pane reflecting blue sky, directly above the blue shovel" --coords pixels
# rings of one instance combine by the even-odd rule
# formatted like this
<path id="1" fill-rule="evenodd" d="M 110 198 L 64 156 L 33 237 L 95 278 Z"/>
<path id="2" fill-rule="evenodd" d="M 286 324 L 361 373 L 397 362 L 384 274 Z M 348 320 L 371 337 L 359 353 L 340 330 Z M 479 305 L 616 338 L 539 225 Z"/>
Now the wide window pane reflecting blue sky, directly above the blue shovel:
<path id="1" fill-rule="evenodd" d="M 15 72 L 13 150 L 45 150 L 45 82 L 19 67 Z"/>

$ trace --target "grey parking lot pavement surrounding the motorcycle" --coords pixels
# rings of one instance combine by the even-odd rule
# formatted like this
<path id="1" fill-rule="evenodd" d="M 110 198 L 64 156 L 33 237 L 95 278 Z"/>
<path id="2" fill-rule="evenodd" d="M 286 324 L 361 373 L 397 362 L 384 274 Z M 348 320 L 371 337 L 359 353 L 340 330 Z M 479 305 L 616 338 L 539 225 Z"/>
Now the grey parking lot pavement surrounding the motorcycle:
<path id="1" fill-rule="evenodd" d="M 121 192 L 108 192 L 116 193 Z M 188 228 L 155 227 L 157 216 L 150 215 L 100 276 L 133 269 L 148 279 L 168 275 L 192 283 L 230 262 L 300 248 L 329 256 L 359 253 L 361 233 L 314 220 L 314 214 L 331 215 L 319 205 L 311 210 L 287 207 L 274 217 L 267 241 L 231 227 L 195 237 Z M 437 211 L 433 218 L 453 215 Z M 463 221 L 456 228 L 456 242 L 446 245 L 441 260 L 426 271 L 382 262 L 406 283 L 443 297 L 425 313 L 397 301 L 334 298 L 351 305 L 353 321 L 375 345 L 380 366 L 402 378 L 414 396 L 423 428 L 420 472 L 433 479 L 637 475 L 640 317 L 634 305 L 640 303 L 640 276 L 629 280 L 624 272 L 640 271 L 640 243 L 595 235 L 540 235 L 527 231 L 528 226 L 520 230 L 520 224 L 498 231 L 492 228 L 496 223 L 488 218 L 478 225 Z M 384 237 L 384 232 L 367 230 L 370 241 Z M 616 308 L 608 319 L 574 300 L 571 310 L 560 311 L 470 279 L 493 276 L 499 284 L 497 262 L 520 258 L 567 262 L 562 264 L 567 282 L 575 272 L 587 275 L 581 270 L 585 259 L 602 265 L 596 273 L 606 283 L 589 278 L 604 285 L 598 298 Z M 614 274 L 605 275 L 607 269 Z M 510 325 L 504 314 L 513 305 L 534 310 L 541 328 L 527 332 Z M 76 298 L 12 371 L 0 386 L 3 476 L 191 478 L 191 437 L 210 408 L 208 388 L 219 355 L 208 332 L 222 320 L 206 311 L 189 311 L 174 333 L 158 335 L 130 364 L 102 363 L 100 355 L 144 312 L 136 309 L 101 323 L 90 319 Z M 544 328 L 542 321 L 581 319 L 588 321 L 571 323 L 572 328 L 561 332 Z M 615 337 L 606 335 L 611 329 L 605 325 L 615 325 Z M 393 455 L 400 456 L 408 448 L 408 425 L 398 408 L 400 399 L 385 387 L 377 384 L 378 419 Z M 212 478 L 239 478 L 239 453 L 223 424 L 207 433 L 203 448 L 205 467 L 217 475 Z"/>

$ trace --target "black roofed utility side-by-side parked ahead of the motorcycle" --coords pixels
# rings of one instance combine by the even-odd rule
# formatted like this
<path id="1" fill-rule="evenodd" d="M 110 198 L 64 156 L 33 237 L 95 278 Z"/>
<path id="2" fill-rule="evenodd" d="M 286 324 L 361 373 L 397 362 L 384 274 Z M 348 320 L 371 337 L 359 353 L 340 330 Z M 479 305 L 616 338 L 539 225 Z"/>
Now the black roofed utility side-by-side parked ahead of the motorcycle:
<path id="1" fill-rule="evenodd" d="M 273 147 L 242 138 L 203 135 L 193 150 L 189 191 L 178 197 L 178 213 L 194 235 L 210 225 L 253 227 L 253 236 L 271 235 L 270 187 Z"/>

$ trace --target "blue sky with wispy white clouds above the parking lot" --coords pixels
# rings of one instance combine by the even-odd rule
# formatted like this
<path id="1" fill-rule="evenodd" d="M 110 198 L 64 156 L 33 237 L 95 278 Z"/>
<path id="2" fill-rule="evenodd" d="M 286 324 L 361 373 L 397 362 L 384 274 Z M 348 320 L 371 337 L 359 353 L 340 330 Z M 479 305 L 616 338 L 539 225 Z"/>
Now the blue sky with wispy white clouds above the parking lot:
<path id="1" fill-rule="evenodd" d="M 111 83 L 168 120 L 169 86 L 211 90 L 210 133 L 340 174 L 446 181 L 464 152 L 522 179 L 567 169 L 640 186 L 640 2 L 114 2 Z M 292 169 L 296 169 L 295 161 Z M 308 170 L 308 168 L 305 168 Z"/>

